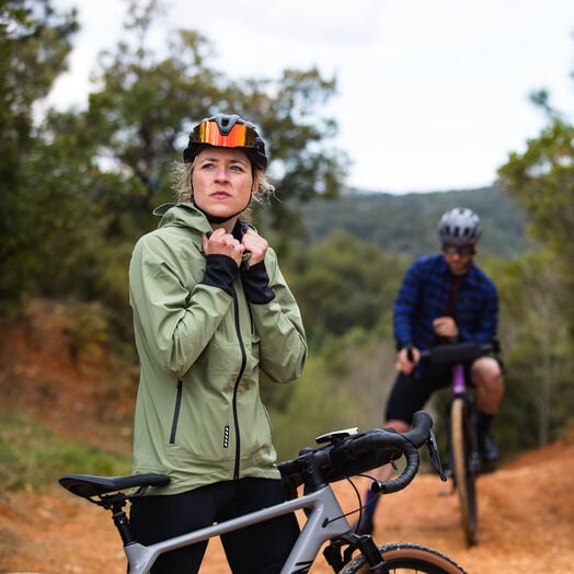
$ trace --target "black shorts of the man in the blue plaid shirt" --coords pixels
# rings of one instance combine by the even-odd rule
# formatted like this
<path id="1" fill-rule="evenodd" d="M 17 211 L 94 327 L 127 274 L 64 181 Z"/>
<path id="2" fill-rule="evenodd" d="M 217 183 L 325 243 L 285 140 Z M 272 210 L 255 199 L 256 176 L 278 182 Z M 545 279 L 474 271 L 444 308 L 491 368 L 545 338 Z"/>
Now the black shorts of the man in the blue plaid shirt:
<path id="1" fill-rule="evenodd" d="M 469 366 L 466 366 L 467 380 Z M 413 414 L 427 403 L 433 392 L 448 387 L 451 381 L 450 365 L 433 365 L 423 361 L 411 377 L 400 372 L 387 401 L 386 421 L 413 423 Z"/>

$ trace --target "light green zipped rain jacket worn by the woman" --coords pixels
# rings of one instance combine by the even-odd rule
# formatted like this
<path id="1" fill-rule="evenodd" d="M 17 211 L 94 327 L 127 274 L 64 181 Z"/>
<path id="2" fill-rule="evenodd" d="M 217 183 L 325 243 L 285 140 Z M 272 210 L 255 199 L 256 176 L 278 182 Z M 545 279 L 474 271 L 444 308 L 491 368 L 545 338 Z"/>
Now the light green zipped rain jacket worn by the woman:
<path id="1" fill-rule="evenodd" d="M 260 369 L 275 382 L 301 375 L 307 341 L 299 308 L 272 249 L 265 268 L 275 299 L 249 303 L 200 282 L 202 236 L 211 228 L 191 204 L 167 210 L 129 265 L 140 380 L 134 472 L 169 474 L 176 494 L 244 477 L 279 478 Z"/>

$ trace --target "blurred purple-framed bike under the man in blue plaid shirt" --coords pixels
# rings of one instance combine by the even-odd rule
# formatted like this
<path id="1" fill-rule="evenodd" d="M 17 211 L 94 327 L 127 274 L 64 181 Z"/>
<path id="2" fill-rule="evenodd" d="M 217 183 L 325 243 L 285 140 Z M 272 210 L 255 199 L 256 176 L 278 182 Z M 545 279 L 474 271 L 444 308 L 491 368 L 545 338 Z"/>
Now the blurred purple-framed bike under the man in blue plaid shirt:
<path id="1" fill-rule="evenodd" d="M 477 477 L 483 471 L 477 432 L 477 409 L 467 387 L 464 364 L 495 353 L 502 364 L 500 345 L 494 343 L 451 343 L 421 351 L 421 359 L 452 366 L 450 395 L 447 401 L 447 474 L 458 493 L 462 529 L 468 546 L 478 542 L 479 513 Z"/>

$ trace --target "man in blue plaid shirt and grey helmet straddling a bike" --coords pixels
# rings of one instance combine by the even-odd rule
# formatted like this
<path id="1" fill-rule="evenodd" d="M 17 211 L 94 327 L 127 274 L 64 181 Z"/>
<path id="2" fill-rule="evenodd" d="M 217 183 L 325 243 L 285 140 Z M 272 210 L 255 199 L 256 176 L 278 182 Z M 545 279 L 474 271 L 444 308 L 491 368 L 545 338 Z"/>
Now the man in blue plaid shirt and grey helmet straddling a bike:
<path id="1" fill-rule="evenodd" d="M 398 433 L 410 429 L 413 414 L 437 389 L 450 383 L 450 367 L 420 363 L 420 351 L 449 342 L 492 342 L 498 323 L 498 294 L 494 283 L 473 262 L 482 226 L 472 210 L 457 207 L 438 225 L 443 253 L 415 261 L 403 278 L 393 306 L 393 330 L 399 371 L 387 404 L 386 426 Z M 479 449 L 484 463 L 498 458 L 492 421 L 504 383 L 501 365 L 480 357 L 468 365 L 477 388 Z M 389 480 L 392 468 L 377 469 L 377 480 Z M 366 496 L 359 533 L 372 532 L 378 496 Z"/>

